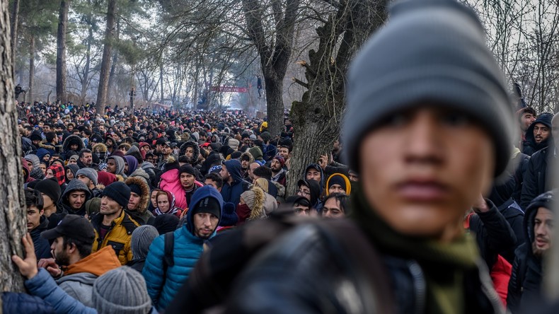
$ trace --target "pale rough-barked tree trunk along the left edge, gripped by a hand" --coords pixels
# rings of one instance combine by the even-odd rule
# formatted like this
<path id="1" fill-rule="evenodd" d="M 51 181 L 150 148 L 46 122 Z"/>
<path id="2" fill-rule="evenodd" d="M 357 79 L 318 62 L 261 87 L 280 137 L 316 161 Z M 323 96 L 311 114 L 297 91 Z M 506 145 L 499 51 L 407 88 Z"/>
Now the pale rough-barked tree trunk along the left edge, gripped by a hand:
<path id="1" fill-rule="evenodd" d="M 13 101 L 13 57 L 11 55 L 8 0 L 0 0 L 0 291 L 23 292 L 23 277 L 11 262 L 11 255 L 23 256 L 21 238 L 25 234 L 25 199 L 21 173 L 21 139 L 18 112 Z"/>

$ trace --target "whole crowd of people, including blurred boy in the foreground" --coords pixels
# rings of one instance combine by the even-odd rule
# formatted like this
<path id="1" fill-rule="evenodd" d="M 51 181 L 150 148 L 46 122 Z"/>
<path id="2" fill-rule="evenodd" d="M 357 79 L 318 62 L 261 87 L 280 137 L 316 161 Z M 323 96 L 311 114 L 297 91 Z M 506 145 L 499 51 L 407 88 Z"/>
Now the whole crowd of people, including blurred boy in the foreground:
<path id="1" fill-rule="evenodd" d="M 398 2 L 348 80 L 340 140 L 304 173 L 289 115 L 270 134 L 242 111 L 18 104 L 28 294 L 5 313 L 544 304 L 559 115 L 510 99 L 475 13 Z"/>

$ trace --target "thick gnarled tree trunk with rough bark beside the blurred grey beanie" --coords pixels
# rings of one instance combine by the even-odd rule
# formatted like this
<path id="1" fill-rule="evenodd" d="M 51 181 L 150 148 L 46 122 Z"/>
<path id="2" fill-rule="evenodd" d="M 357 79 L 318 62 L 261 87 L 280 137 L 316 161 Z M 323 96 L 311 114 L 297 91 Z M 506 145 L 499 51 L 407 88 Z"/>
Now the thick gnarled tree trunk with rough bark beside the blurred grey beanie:
<path id="1" fill-rule="evenodd" d="M 316 28 L 318 49 L 309 51 L 306 67 L 308 91 L 294 102 L 290 114 L 295 132 L 287 194 L 296 191 L 309 163 L 330 156 L 340 136 L 345 109 L 345 75 L 350 61 L 369 35 L 386 20 L 386 0 L 340 2 L 328 21 Z M 341 42 L 340 44 L 338 44 Z"/>

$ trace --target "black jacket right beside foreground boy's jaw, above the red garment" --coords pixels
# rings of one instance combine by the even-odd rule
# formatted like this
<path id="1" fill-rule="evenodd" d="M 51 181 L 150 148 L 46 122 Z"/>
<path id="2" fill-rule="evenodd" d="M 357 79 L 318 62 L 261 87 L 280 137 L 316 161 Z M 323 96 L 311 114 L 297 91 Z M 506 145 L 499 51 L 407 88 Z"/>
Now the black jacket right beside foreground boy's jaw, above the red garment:
<path id="1" fill-rule="evenodd" d="M 491 269 L 500 252 L 514 250 L 517 237 L 497 207 L 491 201 L 487 202 L 490 210 L 471 215 L 469 229 L 476 234 L 480 255 Z"/>

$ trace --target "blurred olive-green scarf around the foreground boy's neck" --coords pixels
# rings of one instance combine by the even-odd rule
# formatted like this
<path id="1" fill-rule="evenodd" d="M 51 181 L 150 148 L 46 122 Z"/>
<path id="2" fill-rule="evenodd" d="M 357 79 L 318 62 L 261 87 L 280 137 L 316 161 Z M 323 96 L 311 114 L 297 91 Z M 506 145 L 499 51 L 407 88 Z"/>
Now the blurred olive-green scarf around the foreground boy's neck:
<path id="1" fill-rule="evenodd" d="M 466 313 L 465 274 L 476 270 L 479 258 L 475 240 L 465 233 L 451 243 L 403 235 L 376 214 L 361 188 L 352 196 L 352 219 L 371 243 L 383 254 L 420 265 L 427 286 L 425 313 Z"/>

